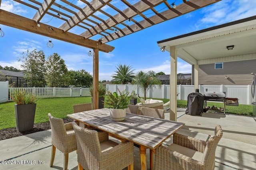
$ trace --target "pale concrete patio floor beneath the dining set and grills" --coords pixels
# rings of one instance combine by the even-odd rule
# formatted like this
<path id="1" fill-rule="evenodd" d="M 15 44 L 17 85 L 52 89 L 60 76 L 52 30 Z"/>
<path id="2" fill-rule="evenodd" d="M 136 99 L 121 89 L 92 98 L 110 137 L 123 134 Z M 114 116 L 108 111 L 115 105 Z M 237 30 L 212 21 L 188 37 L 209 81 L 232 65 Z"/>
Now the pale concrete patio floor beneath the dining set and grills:
<path id="1" fill-rule="evenodd" d="M 185 109 L 181 108 L 178 108 L 177 114 L 178 121 L 186 124 L 179 133 L 198 139 L 206 140 L 209 134 L 213 135 L 217 124 L 222 126 L 224 133 L 216 149 L 215 170 L 256 169 L 256 120 L 254 118 L 223 113 L 203 113 L 202 117 L 191 116 L 186 115 Z M 166 112 L 165 119 L 169 119 L 169 112 Z M 117 141 L 114 138 L 111 139 Z M 171 143 L 172 137 L 163 145 L 168 146 Z M 10 164 L 0 164 L 0 169 L 60 170 L 63 167 L 63 154 L 58 150 L 56 150 L 54 166 L 49 167 L 51 130 L 6 139 L 0 141 L 0 146 L 0 160 L 10 160 Z M 149 158 L 148 150 L 147 154 Z M 136 147 L 134 147 L 134 156 L 134 170 L 139 170 L 139 149 Z M 147 164 L 149 169 L 149 159 Z M 76 152 L 69 154 L 68 169 L 77 169 Z"/>

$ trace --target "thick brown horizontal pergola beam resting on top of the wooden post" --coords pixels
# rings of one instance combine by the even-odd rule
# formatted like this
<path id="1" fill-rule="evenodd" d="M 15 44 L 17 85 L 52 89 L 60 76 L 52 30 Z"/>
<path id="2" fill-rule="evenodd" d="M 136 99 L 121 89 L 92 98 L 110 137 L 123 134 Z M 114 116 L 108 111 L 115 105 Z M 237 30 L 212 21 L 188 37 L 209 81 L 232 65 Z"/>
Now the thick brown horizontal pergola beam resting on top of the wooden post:
<path id="1" fill-rule="evenodd" d="M 22 29 L 24 31 L 29 31 L 39 35 L 44 35 L 61 41 L 66 41 L 68 43 L 80 45 L 87 48 L 98 49 L 103 52 L 110 52 L 114 50 L 114 47 L 106 44 L 101 44 L 98 41 L 91 39 L 86 39 L 80 35 L 76 35 L 70 32 L 64 32 L 62 29 L 52 27 L 40 23 L 40 27 L 37 26 L 37 23 L 34 20 L 7 12 L 0 9 L 0 23 L 17 29 Z"/>

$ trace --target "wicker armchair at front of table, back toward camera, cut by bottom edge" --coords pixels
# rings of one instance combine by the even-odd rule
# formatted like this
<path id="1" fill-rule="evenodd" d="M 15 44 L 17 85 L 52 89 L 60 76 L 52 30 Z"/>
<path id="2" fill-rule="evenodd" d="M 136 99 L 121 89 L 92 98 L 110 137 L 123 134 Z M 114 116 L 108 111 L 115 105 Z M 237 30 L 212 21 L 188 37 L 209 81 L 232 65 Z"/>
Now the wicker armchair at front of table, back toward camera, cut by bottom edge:
<path id="1" fill-rule="evenodd" d="M 115 143 L 101 139 L 99 132 L 84 129 L 73 122 L 77 141 L 78 170 L 133 170 L 133 143 Z"/>

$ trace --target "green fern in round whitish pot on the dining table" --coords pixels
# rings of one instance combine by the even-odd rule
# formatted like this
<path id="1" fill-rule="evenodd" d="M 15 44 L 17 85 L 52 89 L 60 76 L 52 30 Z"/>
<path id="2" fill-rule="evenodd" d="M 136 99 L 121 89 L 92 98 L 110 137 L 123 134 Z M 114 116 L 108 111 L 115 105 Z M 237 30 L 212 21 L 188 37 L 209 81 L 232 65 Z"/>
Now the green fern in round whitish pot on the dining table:
<path id="1" fill-rule="evenodd" d="M 130 104 L 129 92 L 120 92 L 118 89 L 119 96 L 116 92 L 111 93 L 108 91 L 108 98 L 104 101 L 104 104 L 110 108 L 110 117 L 114 121 L 122 121 L 126 116 L 126 108 Z"/>

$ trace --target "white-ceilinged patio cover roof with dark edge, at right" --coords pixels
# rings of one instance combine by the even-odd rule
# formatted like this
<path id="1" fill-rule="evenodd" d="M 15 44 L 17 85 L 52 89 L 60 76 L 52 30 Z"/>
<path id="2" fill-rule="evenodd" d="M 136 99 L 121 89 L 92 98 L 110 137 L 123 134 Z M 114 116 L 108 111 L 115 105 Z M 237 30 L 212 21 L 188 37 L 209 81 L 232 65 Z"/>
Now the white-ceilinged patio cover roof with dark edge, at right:
<path id="1" fill-rule="evenodd" d="M 256 59 L 256 16 L 158 41 L 158 46 L 175 46 L 178 57 L 190 64 Z M 226 47 L 234 45 L 233 50 Z"/>

